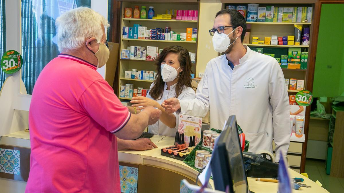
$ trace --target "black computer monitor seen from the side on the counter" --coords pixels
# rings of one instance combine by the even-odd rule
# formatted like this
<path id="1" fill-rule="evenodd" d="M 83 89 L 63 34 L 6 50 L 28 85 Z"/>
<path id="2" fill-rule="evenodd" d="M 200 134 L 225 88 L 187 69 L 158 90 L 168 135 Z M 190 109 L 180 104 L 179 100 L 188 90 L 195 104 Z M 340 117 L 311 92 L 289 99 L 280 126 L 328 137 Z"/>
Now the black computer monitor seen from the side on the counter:
<path id="1" fill-rule="evenodd" d="M 220 137 L 217 139 L 210 164 L 215 190 L 225 191 L 229 185 L 230 193 L 248 192 L 235 115 L 228 118 Z"/>

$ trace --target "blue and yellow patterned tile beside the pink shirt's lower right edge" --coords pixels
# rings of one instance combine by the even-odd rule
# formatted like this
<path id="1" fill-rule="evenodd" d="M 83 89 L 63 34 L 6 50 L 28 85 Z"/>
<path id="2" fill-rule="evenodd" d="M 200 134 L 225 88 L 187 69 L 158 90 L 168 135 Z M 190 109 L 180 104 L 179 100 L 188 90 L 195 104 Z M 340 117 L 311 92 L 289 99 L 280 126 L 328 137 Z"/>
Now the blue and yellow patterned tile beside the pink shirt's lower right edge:
<path id="1" fill-rule="evenodd" d="M 121 192 L 137 193 L 138 168 L 119 166 Z"/>

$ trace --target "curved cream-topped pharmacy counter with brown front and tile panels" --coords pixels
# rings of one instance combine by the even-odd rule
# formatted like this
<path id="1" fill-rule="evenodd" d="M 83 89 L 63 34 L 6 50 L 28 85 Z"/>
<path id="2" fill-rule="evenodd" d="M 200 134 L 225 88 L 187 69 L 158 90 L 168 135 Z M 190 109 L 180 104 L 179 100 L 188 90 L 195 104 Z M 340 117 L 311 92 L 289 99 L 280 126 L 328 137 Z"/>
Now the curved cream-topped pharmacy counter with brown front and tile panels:
<path id="1" fill-rule="evenodd" d="M 161 155 L 161 148 L 171 146 L 174 137 L 153 136 L 158 148 L 146 151 L 118 151 L 120 162 L 121 192 L 137 190 L 140 192 L 179 192 L 181 180 L 194 184 L 198 172 L 184 162 Z M 20 131 L 0 138 L 1 145 L 30 148 L 29 133 Z M 293 190 L 293 192 L 327 192 L 318 184 L 289 169 L 290 177 L 304 178 L 304 183 L 312 188 Z M 278 183 L 255 181 L 248 178 L 251 191 L 256 193 L 276 193 Z M 24 192 L 26 182 L 0 178 L 0 186 L 7 192 Z M 213 187 L 211 180 L 208 187 Z"/>

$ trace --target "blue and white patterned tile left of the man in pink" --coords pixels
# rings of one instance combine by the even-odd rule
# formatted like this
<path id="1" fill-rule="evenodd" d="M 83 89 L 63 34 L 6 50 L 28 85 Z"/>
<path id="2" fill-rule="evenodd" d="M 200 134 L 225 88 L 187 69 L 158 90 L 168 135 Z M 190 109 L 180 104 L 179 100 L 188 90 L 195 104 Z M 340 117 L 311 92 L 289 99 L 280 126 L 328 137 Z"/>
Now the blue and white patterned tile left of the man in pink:
<path id="1" fill-rule="evenodd" d="M 0 172 L 20 175 L 20 151 L 0 148 Z"/>

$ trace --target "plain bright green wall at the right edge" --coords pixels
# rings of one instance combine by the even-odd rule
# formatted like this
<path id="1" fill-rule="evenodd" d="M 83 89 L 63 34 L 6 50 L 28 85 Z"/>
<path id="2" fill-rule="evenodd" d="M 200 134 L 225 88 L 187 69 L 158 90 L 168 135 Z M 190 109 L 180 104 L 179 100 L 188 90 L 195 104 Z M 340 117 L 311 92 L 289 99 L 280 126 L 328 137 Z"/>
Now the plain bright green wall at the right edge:
<path id="1" fill-rule="evenodd" d="M 344 92 L 343 10 L 344 4 L 322 4 L 313 83 L 314 97 L 333 97 Z"/>

